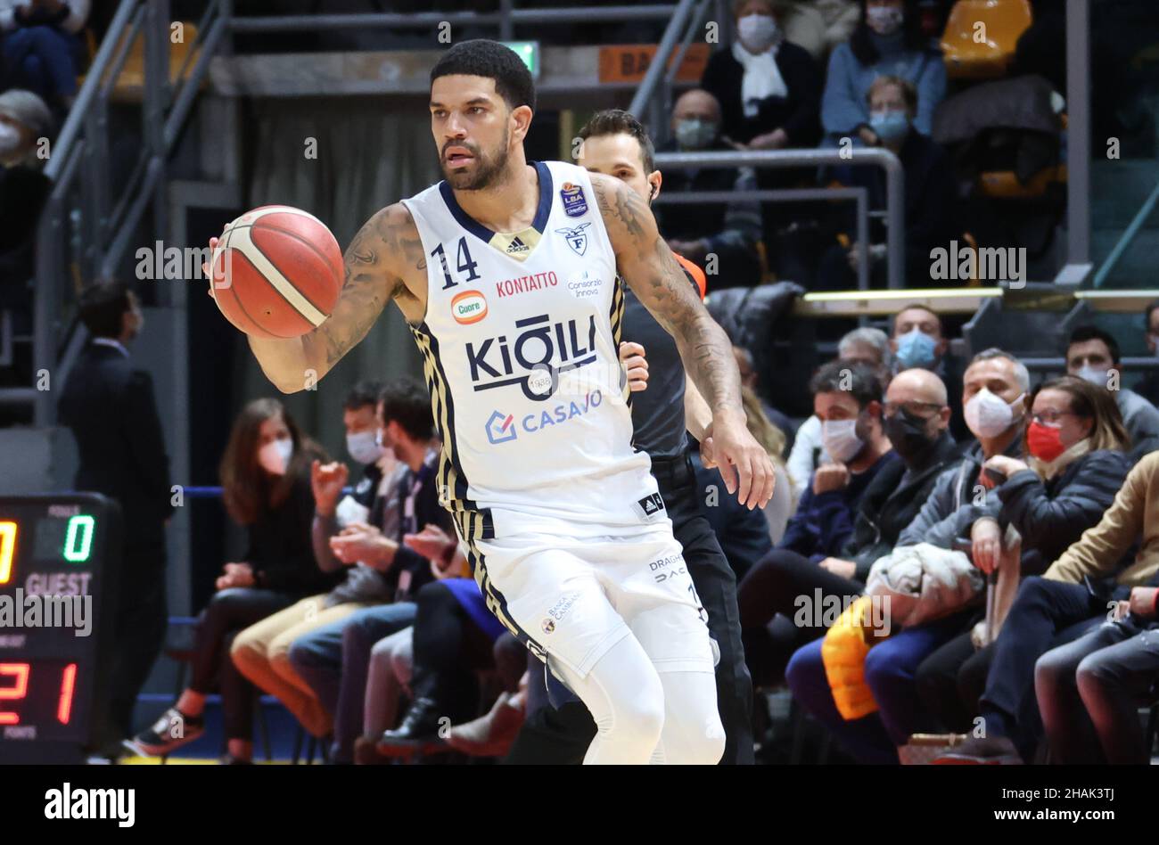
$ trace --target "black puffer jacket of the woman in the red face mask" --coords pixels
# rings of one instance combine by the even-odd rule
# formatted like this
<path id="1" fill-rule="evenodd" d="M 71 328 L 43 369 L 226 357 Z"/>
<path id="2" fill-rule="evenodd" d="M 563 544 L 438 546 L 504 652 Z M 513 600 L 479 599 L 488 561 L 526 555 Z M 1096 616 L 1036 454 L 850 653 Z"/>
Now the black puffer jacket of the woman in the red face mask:
<path id="1" fill-rule="evenodd" d="M 1131 468 L 1127 454 L 1100 449 L 1077 458 L 1049 481 L 1032 469 L 1014 473 L 998 488 L 998 524 L 1022 536 L 1022 574 L 1043 571 L 1083 532 L 1102 519 Z"/>

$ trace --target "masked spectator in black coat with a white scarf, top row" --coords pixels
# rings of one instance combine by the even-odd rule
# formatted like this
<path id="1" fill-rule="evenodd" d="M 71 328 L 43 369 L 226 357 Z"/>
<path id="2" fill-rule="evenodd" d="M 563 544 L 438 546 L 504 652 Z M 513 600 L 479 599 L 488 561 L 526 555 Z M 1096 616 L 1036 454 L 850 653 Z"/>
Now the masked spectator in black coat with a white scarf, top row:
<path id="1" fill-rule="evenodd" d="M 737 39 L 717 50 L 700 87 L 720 102 L 721 133 L 744 150 L 812 146 L 819 138 L 821 68 L 785 39 L 783 3 L 734 0 Z"/>

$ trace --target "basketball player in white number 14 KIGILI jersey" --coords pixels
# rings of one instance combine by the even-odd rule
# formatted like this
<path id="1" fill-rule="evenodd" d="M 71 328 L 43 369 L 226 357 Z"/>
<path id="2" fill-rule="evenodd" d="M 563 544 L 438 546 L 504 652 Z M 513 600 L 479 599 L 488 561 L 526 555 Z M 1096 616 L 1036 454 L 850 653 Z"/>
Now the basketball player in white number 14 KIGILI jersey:
<path id="1" fill-rule="evenodd" d="M 647 203 L 615 179 L 529 163 L 533 109 L 515 52 L 489 41 L 447 50 L 430 94 L 445 181 L 367 221 L 318 329 L 249 344 L 296 392 L 394 301 L 424 359 L 442 501 L 491 612 L 591 711 L 585 762 L 716 763 L 724 734 L 705 614 L 649 458 L 632 447 L 618 276 L 672 334 L 713 408 L 729 493 L 764 505 L 772 465 L 745 428 L 729 340 Z"/>

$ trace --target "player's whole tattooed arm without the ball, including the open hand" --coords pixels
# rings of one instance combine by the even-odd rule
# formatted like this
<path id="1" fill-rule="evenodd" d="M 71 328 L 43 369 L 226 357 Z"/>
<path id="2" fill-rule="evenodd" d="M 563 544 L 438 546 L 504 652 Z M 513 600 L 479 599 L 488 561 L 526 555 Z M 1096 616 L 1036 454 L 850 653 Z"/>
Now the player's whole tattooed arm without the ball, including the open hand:
<path id="1" fill-rule="evenodd" d="M 672 335 L 688 377 L 713 409 L 701 430 L 702 452 L 741 504 L 763 508 L 773 495 L 773 465 L 745 424 L 732 343 L 688 284 L 643 198 L 610 176 L 591 174 L 591 183 L 620 276 Z"/>

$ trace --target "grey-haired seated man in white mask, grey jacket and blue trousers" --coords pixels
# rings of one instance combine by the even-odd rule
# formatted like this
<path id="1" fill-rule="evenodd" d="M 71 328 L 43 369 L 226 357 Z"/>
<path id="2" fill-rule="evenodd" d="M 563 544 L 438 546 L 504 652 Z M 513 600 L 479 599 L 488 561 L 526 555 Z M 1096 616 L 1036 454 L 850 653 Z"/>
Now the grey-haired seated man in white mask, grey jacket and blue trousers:
<path id="1" fill-rule="evenodd" d="M 943 469 L 917 516 L 906 525 L 895 548 L 928 542 L 952 549 L 970 536 L 974 523 L 992 512 L 997 493 L 979 502 L 982 467 L 998 454 L 1021 453 L 1026 394 L 1030 377 L 1013 356 L 997 349 L 975 356 L 965 371 L 965 420 L 978 437 L 955 466 Z M 870 561 L 872 563 L 872 561 Z M 865 662 L 866 684 L 879 711 L 847 721 L 833 702 L 821 656 L 821 640 L 800 648 L 789 660 L 786 680 L 793 694 L 841 745 L 862 763 L 897 763 L 897 745 L 904 744 L 920 717 L 916 707 L 914 673 L 935 648 L 964 626 L 963 613 L 930 625 L 907 628 L 875 646 Z"/>

